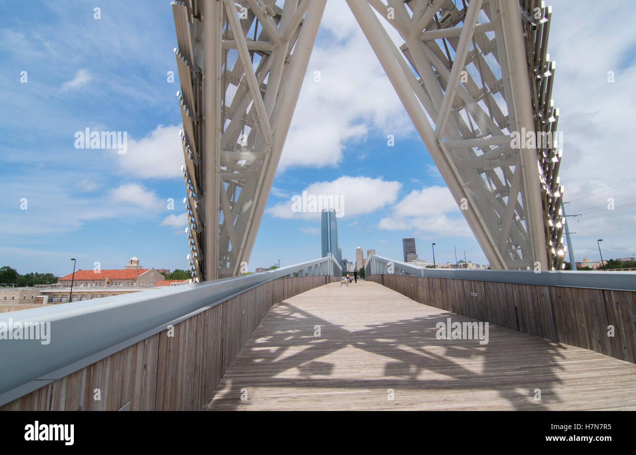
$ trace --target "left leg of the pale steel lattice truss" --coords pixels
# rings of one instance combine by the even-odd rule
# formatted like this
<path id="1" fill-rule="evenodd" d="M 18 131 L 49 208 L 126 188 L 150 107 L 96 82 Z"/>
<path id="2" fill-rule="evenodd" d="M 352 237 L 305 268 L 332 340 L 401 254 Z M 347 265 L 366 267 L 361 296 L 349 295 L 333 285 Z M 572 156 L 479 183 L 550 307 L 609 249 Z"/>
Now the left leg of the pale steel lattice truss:
<path id="1" fill-rule="evenodd" d="M 172 2 L 198 280 L 235 276 L 249 259 L 325 3 Z"/>

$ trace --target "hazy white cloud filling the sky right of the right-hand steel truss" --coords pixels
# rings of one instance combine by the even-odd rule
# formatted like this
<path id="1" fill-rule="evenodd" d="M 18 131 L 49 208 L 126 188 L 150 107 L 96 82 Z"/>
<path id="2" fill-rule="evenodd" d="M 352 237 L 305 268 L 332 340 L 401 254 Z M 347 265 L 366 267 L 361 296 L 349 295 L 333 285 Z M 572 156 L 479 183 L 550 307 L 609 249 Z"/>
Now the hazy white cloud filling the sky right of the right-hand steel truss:
<path id="1" fill-rule="evenodd" d="M 548 51 L 556 61 L 553 98 L 564 140 L 559 177 L 564 200 L 572 201 L 565 206 L 567 213 L 587 212 L 581 221 L 569 218 L 570 230 L 577 233 L 572 236 L 577 260 L 598 258 L 597 238 L 604 238 L 603 255 L 608 250 L 610 257 L 632 255 L 636 241 L 636 210 L 626 205 L 633 200 L 618 202 L 636 196 L 636 183 L 611 189 L 635 180 L 636 35 L 630 27 L 616 27 L 614 20 L 617 12 L 625 24 L 636 20 L 632 5 L 616 0 L 594 17 L 586 11 L 595 6 L 590 1 L 553 6 Z M 614 83 L 608 82 L 609 71 Z M 617 201 L 616 210 L 603 210 L 608 198 Z"/>

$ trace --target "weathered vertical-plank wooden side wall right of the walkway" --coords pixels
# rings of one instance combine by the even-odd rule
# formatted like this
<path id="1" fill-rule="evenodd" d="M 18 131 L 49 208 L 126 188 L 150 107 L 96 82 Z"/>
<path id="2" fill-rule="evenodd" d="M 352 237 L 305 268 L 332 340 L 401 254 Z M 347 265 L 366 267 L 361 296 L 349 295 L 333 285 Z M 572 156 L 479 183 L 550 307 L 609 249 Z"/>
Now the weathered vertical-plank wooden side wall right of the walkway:
<path id="1" fill-rule="evenodd" d="M 636 363 L 633 290 L 391 274 L 366 280 L 435 308 Z"/>

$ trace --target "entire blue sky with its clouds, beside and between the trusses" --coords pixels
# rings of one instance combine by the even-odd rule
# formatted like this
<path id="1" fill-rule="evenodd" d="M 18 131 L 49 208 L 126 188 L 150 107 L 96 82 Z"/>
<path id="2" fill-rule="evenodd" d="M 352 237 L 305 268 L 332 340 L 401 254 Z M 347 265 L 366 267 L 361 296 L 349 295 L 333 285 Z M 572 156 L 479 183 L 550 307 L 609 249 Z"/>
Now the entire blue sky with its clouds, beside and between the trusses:
<path id="1" fill-rule="evenodd" d="M 560 175 L 576 212 L 636 196 L 636 185 L 611 189 L 635 180 L 636 33 L 611 25 L 617 10 L 624 21 L 634 13 L 625 1 L 607 12 L 591 1 L 553 4 Z M 0 4 L 0 266 L 62 275 L 71 257 L 81 269 L 120 268 L 135 255 L 146 267 L 188 268 L 169 1 L 102 2 L 99 20 L 95 6 Z M 588 17 L 591 8 L 600 18 Z M 76 149 L 74 133 L 85 128 L 128 132 L 127 154 Z M 304 189 L 342 182 L 350 192 L 338 219 L 343 257 L 353 260 L 359 243 L 400 259 L 401 238 L 415 236 L 420 258 L 431 259 L 434 241 L 439 262 L 455 261 L 454 245 L 458 259 L 465 250 L 486 262 L 345 2 L 329 0 L 249 269 L 319 257 L 319 217 L 282 209 Z M 636 252 L 634 210 L 620 206 L 570 221 L 577 256 L 597 258 L 598 236 L 607 257 Z"/>

